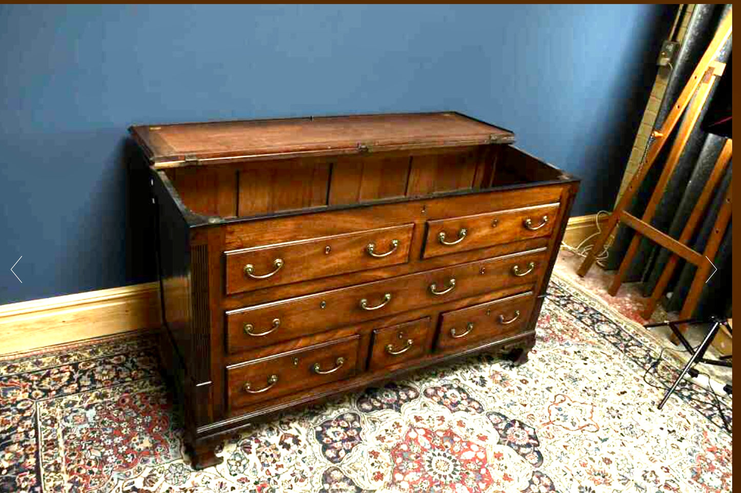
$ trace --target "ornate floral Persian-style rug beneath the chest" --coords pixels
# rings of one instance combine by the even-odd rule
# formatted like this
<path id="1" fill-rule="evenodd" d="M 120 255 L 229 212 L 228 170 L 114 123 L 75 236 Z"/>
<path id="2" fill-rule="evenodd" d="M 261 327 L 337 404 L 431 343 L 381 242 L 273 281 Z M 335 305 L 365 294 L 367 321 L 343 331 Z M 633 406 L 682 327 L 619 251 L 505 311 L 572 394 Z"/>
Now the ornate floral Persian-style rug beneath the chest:
<path id="1" fill-rule="evenodd" d="M 479 355 L 285 414 L 201 472 L 153 343 L 0 359 L 0 492 L 732 490 L 714 396 L 684 383 L 657 411 L 674 367 L 652 368 L 639 327 L 556 276 L 525 365 Z"/>

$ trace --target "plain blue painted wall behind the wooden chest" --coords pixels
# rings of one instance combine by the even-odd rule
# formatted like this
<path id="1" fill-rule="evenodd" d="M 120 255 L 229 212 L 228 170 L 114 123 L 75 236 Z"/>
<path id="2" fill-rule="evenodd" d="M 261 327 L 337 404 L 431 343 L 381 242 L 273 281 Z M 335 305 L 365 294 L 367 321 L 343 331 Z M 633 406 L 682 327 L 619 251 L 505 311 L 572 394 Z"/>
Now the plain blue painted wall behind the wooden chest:
<path id="1" fill-rule="evenodd" d="M 671 13 L 0 6 L 0 303 L 153 279 L 133 123 L 459 110 L 583 178 L 574 215 L 611 207 Z"/>

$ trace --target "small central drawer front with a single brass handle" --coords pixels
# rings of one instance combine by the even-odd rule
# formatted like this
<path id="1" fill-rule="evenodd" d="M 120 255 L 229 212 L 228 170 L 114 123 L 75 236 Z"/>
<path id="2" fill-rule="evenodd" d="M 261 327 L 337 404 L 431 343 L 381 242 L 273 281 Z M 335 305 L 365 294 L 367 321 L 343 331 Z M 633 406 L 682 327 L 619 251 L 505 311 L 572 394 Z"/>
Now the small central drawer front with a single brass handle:
<path id="1" fill-rule="evenodd" d="M 373 330 L 368 369 L 374 370 L 420 358 L 430 352 L 430 318 Z"/>

